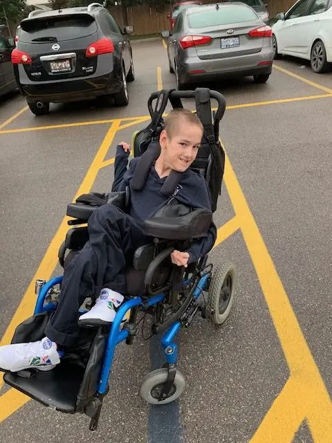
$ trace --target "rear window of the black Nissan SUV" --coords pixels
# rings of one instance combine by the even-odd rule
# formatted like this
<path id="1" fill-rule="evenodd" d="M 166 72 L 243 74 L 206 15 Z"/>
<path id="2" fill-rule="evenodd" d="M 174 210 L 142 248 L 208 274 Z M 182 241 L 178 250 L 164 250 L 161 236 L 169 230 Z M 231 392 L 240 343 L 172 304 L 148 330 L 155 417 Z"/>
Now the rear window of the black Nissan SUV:
<path id="1" fill-rule="evenodd" d="M 42 17 L 21 22 L 19 41 L 38 43 L 53 39 L 61 42 L 86 37 L 97 32 L 97 24 L 91 15 Z"/>

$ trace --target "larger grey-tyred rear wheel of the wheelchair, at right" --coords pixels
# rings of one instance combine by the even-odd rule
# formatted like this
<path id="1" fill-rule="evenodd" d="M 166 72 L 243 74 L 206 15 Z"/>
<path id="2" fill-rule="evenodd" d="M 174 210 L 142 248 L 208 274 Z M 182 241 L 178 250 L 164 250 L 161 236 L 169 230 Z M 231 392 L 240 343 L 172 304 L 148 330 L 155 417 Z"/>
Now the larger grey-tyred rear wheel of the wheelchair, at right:
<path id="1" fill-rule="evenodd" d="M 237 269 L 234 264 L 219 265 L 212 275 L 207 314 L 214 325 L 222 325 L 228 318 L 237 288 Z"/>

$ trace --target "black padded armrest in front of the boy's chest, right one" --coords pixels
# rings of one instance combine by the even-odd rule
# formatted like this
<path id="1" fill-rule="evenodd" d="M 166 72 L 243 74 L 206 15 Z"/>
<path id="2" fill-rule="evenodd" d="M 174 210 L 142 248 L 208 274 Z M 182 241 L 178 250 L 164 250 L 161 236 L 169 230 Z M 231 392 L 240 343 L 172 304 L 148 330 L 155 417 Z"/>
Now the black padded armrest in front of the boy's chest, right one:
<path id="1" fill-rule="evenodd" d="M 183 204 L 164 206 L 145 221 L 145 235 L 170 240 L 206 237 L 212 224 L 212 212 L 206 209 L 189 211 Z"/>

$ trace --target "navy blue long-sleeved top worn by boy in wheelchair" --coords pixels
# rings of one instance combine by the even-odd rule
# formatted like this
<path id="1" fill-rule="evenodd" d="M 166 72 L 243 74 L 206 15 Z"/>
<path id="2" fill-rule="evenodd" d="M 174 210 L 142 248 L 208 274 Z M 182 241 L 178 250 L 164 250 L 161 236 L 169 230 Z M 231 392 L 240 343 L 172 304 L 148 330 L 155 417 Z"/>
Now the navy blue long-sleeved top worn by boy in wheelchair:
<path id="1" fill-rule="evenodd" d="M 130 186 L 133 172 L 140 158 L 132 159 L 127 170 L 128 156 L 129 153 L 124 152 L 122 146 L 117 146 L 112 192 L 124 191 L 127 186 Z M 129 208 L 129 215 L 131 217 L 139 221 L 145 221 L 153 217 L 154 213 L 166 204 L 169 197 L 165 197 L 160 192 L 165 179 L 166 177 L 160 179 L 154 166 L 152 166 L 145 182 L 145 187 L 140 191 L 135 191 L 131 188 L 131 207 Z M 192 208 L 211 210 L 210 194 L 205 179 L 192 170 L 183 172 L 183 178 L 173 196 L 176 196 L 180 203 Z M 199 260 L 199 257 L 207 254 L 212 249 L 215 240 L 216 226 L 212 224 L 208 231 L 208 236 L 197 239 L 185 251 L 190 254 L 189 262 L 196 262 Z"/>

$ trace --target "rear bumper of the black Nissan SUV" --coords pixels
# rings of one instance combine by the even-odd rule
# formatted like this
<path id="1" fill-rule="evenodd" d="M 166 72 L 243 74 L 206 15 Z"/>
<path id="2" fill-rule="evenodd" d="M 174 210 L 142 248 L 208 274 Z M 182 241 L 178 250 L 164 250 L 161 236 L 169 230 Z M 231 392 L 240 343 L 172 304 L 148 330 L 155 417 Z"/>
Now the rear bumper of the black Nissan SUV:
<path id="1" fill-rule="evenodd" d="M 115 71 L 100 73 L 86 77 L 67 78 L 64 80 L 51 80 L 35 82 L 28 78 L 24 67 L 17 67 L 17 82 L 21 94 L 26 96 L 28 102 L 73 102 L 90 100 L 120 91 L 122 78 Z"/>

